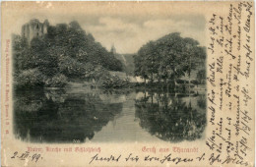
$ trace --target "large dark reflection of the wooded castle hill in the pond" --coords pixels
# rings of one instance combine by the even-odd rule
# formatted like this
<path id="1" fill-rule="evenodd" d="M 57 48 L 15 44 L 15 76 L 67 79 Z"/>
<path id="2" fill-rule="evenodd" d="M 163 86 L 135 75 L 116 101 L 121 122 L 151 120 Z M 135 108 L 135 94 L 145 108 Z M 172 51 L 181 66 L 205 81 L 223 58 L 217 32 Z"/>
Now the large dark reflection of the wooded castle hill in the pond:
<path id="1" fill-rule="evenodd" d="M 98 94 L 64 90 L 16 92 L 14 131 L 31 141 L 70 142 L 93 139 L 122 110 L 122 103 L 103 102 Z"/>

